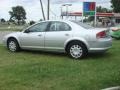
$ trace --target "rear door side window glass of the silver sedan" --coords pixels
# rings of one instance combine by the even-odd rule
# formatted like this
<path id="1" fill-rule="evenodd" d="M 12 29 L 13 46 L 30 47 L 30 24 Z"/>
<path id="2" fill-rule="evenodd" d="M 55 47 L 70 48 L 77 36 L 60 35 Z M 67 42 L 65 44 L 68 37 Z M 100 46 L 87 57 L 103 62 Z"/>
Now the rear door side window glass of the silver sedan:
<path id="1" fill-rule="evenodd" d="M 51 22 L 49 31 L 70 31 L 71 27 L 64 22 Z"/>

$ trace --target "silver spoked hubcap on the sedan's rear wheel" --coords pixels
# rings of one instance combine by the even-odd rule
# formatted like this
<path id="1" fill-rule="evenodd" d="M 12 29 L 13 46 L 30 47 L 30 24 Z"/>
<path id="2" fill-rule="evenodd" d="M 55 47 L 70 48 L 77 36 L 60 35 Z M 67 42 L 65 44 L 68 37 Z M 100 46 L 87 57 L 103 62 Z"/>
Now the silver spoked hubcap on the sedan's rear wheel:
<path id="1" fill-rule="evenodd" d="M 80 58 L 82 56 L 83 50 L 81 48 L 81 46 L 79 45 L 73 45 L 70 48 L 70 54 L 72 55 L 72 57 L 74 58 Z"/>

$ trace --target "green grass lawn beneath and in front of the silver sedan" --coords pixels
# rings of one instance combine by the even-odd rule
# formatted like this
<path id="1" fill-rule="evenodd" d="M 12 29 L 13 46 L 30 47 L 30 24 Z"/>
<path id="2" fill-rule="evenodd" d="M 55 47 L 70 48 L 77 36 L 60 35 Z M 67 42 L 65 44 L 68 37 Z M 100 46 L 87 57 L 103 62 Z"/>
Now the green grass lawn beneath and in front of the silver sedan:
<path id="1" fill-rule="evenodd" d="M 11 53 L 0 46 L 0 90 L 100 90 L 120 85 L 120 41 L 105 54 Z"/>

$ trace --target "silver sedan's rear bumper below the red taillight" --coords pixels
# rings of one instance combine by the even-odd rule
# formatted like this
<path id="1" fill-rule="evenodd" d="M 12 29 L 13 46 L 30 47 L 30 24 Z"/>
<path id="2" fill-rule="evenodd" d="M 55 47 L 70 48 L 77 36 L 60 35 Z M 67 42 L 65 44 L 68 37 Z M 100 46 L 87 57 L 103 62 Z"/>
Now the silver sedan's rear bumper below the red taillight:
<path id="1" fill-rule="evenodd" d="M 100 39 L 92 42 L 89 48 L 89 52 L 105 52 L 112 47 L 112 38 Z"/>

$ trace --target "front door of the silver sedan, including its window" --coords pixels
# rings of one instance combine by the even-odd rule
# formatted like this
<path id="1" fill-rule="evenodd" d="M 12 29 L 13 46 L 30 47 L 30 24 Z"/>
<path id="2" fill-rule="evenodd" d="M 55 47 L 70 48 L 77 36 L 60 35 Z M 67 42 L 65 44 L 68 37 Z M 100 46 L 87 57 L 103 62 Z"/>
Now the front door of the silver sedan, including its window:
<path id="1" fill-rule="evenodd" d="M 48 22 L 42 22 L 25 30 L 19 37 L 21 47 L 30 49 L 43 49 L 47 25 Z"/>

